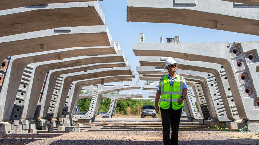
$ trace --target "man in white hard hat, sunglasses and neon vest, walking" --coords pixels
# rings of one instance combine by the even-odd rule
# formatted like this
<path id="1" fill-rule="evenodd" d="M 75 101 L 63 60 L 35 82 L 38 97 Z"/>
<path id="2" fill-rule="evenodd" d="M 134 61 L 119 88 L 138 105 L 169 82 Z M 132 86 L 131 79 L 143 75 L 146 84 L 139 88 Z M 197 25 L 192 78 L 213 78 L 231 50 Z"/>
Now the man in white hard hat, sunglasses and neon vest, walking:
<path id="1" fill-rule="evenodd" d="M 168 75 L 161 77 L 156 94 L 155 110 L 158 113 L 158 101 L 163 126 L 164 145 L 178 145 L 178 130 L 184 97 L 187 95 L 187 86 L 184 77 L 177 75 L 177 62 L 173 58 L 165 61 L 165 69 Z M 172 134 L 170 139 L 170 127 Z"/>

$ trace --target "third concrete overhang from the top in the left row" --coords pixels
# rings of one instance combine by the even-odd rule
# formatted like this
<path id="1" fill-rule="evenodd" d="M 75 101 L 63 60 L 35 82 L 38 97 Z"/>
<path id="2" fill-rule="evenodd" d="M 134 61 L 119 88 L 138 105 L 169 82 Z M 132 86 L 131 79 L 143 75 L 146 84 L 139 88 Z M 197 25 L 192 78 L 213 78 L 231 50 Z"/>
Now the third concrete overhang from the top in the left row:
<path id="1" fill-rule="evenodd" d="M 46 50 L 93 46 L 111 46 L 111 35 L 106 25 L 55 28 L 0 37 L 1 58 Z"/>

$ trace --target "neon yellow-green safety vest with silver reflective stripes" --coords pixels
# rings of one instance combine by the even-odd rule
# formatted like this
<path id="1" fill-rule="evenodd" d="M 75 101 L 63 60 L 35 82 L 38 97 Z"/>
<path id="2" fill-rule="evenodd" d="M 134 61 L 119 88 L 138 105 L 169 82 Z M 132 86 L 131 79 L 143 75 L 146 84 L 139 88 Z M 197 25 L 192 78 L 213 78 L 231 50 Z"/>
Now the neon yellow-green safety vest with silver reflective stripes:
<path id="1" fill-rule="evenodd" d="M 183 86 L 183 77 L 176 74 L 173 86 L 170 85 L 170 81 L 165 75 L 160 79 L 161 87 L 161 100 L 160 107 L 163 109 L 168 109 L 170 103 L 172 102 L 172 108 L 174 110 L 180 109 L 184 106 L 184 102 L 181 105 L 178 105 L 178 99 L 182 96 L 182 86 Z"/>

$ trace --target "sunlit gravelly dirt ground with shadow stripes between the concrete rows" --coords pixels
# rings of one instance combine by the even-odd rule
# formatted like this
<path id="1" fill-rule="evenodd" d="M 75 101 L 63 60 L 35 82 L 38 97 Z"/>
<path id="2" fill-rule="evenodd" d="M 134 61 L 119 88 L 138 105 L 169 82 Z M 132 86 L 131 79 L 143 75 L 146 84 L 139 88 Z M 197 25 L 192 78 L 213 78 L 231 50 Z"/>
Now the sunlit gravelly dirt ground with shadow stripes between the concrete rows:
<path id="1" fill-rule="evenodd" d="M 116 116 L 114 116 L 116 117 Z M 121 117 L 121 116 L 117 116 Z M 135 116 L 136 117 L 136 116 Z M 163 145 L 162 124 L 159 121 L 101 121 L 84 124 L 80 132 L 54 133 L 38 130 L 38 134 L 5 134 L 0 144 L 16 145 Z M 198 123 L 181 121 L 179 145 L 259 145 L 256 132 L 206 128 Z"/>

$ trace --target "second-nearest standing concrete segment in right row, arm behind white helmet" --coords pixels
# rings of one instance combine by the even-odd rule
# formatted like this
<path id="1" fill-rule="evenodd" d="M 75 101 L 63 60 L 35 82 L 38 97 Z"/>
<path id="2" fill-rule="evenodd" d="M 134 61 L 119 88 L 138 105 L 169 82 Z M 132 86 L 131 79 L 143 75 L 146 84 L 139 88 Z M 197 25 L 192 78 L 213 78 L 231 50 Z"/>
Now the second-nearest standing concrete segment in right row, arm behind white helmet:
<path id="1" fill-rule="evenodd" d="M 168 57 L 139 56 L 140 65 L 142 66 L 164 66 L 165 60 L 167 59 Z M 228 76 L 226 75 L 225 69 L 222 65 L 210 62 L 191 60 L 186 61 L 180 58 L 175 58 L 175 60 L 178 62 L 178 68 L 182 70 L 194 70 L 212 73 L 215 78 L 211 78 L 210 80 L 217 80 L 218 86 L 216 86 L 215 89 L 217 92 L 220 92 L 220 95 L 222 95 L 222 100 L 224 102 L 228 119 L 241 120 L 237 112 L 235 101 L 232 95 L 233 93 L 231 92 L 229 85 L 230 82 L 228 82 L 229 79 L 226 79 Z M 218 93 L 216 93 L 216 95 L 217 94 Z"/>

